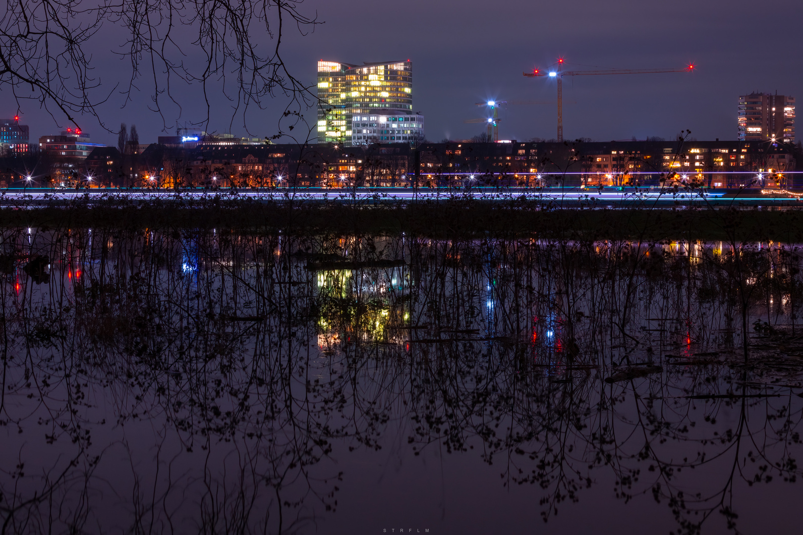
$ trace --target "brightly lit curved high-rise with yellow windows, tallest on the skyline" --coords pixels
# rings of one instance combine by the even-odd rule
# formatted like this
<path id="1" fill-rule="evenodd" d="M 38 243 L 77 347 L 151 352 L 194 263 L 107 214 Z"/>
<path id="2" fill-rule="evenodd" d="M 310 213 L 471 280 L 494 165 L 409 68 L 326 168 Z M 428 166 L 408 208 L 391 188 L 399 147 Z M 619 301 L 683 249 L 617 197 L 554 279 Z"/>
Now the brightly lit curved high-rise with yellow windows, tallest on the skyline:
<path id="1" fill-rule="evenodd" d="M 409 59 L 362 65 L 320 60 L 318 99 L 318 143 L 350 147 L 423 138 Z"/>

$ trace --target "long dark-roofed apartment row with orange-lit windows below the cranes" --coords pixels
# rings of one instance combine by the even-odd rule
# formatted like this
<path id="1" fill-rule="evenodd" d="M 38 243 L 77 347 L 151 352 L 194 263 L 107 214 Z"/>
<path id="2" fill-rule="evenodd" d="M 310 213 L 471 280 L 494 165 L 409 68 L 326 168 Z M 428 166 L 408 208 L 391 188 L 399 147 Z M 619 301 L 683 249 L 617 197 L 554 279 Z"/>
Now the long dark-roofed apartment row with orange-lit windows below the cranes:
<path id="1" fill-rule="evenodd" d="M 711 188 L 740 188 L 762 175 L 796 171 L 800 146 L 756 141 L 609 141 L 423 144 L 426 177 L 494 176 L 520 185 L 658 186 L 667 177 Z M 795 176 L 786 186 L 803 185 Z M 484 179 L 483 179 L 484 180 Z M 549 182 L 549 184 L 547 184 Z M 773 187 L 772 184 L 762 185 Z M 778 187 L 781 184 L 775 184 Z"/>

